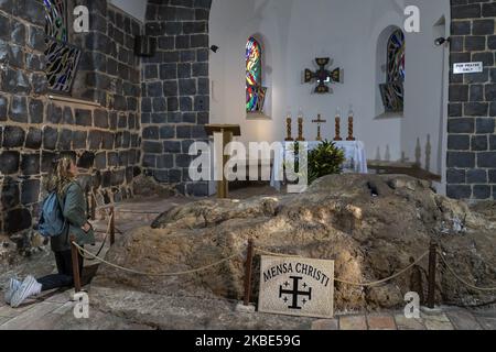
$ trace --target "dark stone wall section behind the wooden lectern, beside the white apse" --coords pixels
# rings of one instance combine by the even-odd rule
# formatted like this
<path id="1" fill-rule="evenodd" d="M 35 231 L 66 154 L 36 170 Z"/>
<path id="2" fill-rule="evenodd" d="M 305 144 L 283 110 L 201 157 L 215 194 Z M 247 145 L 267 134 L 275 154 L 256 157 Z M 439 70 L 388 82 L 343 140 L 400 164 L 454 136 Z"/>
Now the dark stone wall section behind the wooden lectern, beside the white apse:
<path id="1" fill-rule="evenodd" d="M 205 196 L 206 183 L 192 183 L 193 141 L 205 141 L 208 123 L 208 16 L 212 0 L 149 0 L 145 33 L 158 51 L 143 59 L 142 166 L 160 183 L 186 195 Z"/>

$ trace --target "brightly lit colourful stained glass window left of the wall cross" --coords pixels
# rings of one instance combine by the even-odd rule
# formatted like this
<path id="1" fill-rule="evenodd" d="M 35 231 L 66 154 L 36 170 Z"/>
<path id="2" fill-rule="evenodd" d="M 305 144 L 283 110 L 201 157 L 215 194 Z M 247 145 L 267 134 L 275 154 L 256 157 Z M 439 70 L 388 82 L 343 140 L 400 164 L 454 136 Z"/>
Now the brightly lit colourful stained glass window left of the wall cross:
<path id="1" fill-rule="evenodd" d="M 267 88 L 262 87 L 262 48 L 250 37 L 246 44 L 246 111 L 261 112 Z"/>

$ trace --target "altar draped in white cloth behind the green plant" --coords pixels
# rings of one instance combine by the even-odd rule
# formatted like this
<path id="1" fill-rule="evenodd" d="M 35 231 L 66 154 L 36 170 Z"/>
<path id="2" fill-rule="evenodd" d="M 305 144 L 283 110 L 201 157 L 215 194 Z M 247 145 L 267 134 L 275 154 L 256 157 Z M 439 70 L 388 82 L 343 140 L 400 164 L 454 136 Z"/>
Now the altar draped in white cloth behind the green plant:
<path id="1" fill-rule="evenodd" d="M 312 141 L 305 142 L 308 144 L 309 152 L 316 148 L 321 142 Z M 367 168 L 367 157 L 365 154 L 365 144 L 360 141 L 338 141 L 334 142 L 335 145 L 343 150 L 345 154 L 345 163 L 343 165 L 344 173 L 355 173 L 355 174 L 368 174 Z M 273 156 L 273 167 L 270 178 L 270 186 L 280 190 L 281 180 L 277 179 L 276 175 L 281 175 L 282 168 L 284 167 L 284 161 L 292 160 L 294 142 L 283 143 L 283 150 L 279 153 L 274 153 Z"/>

